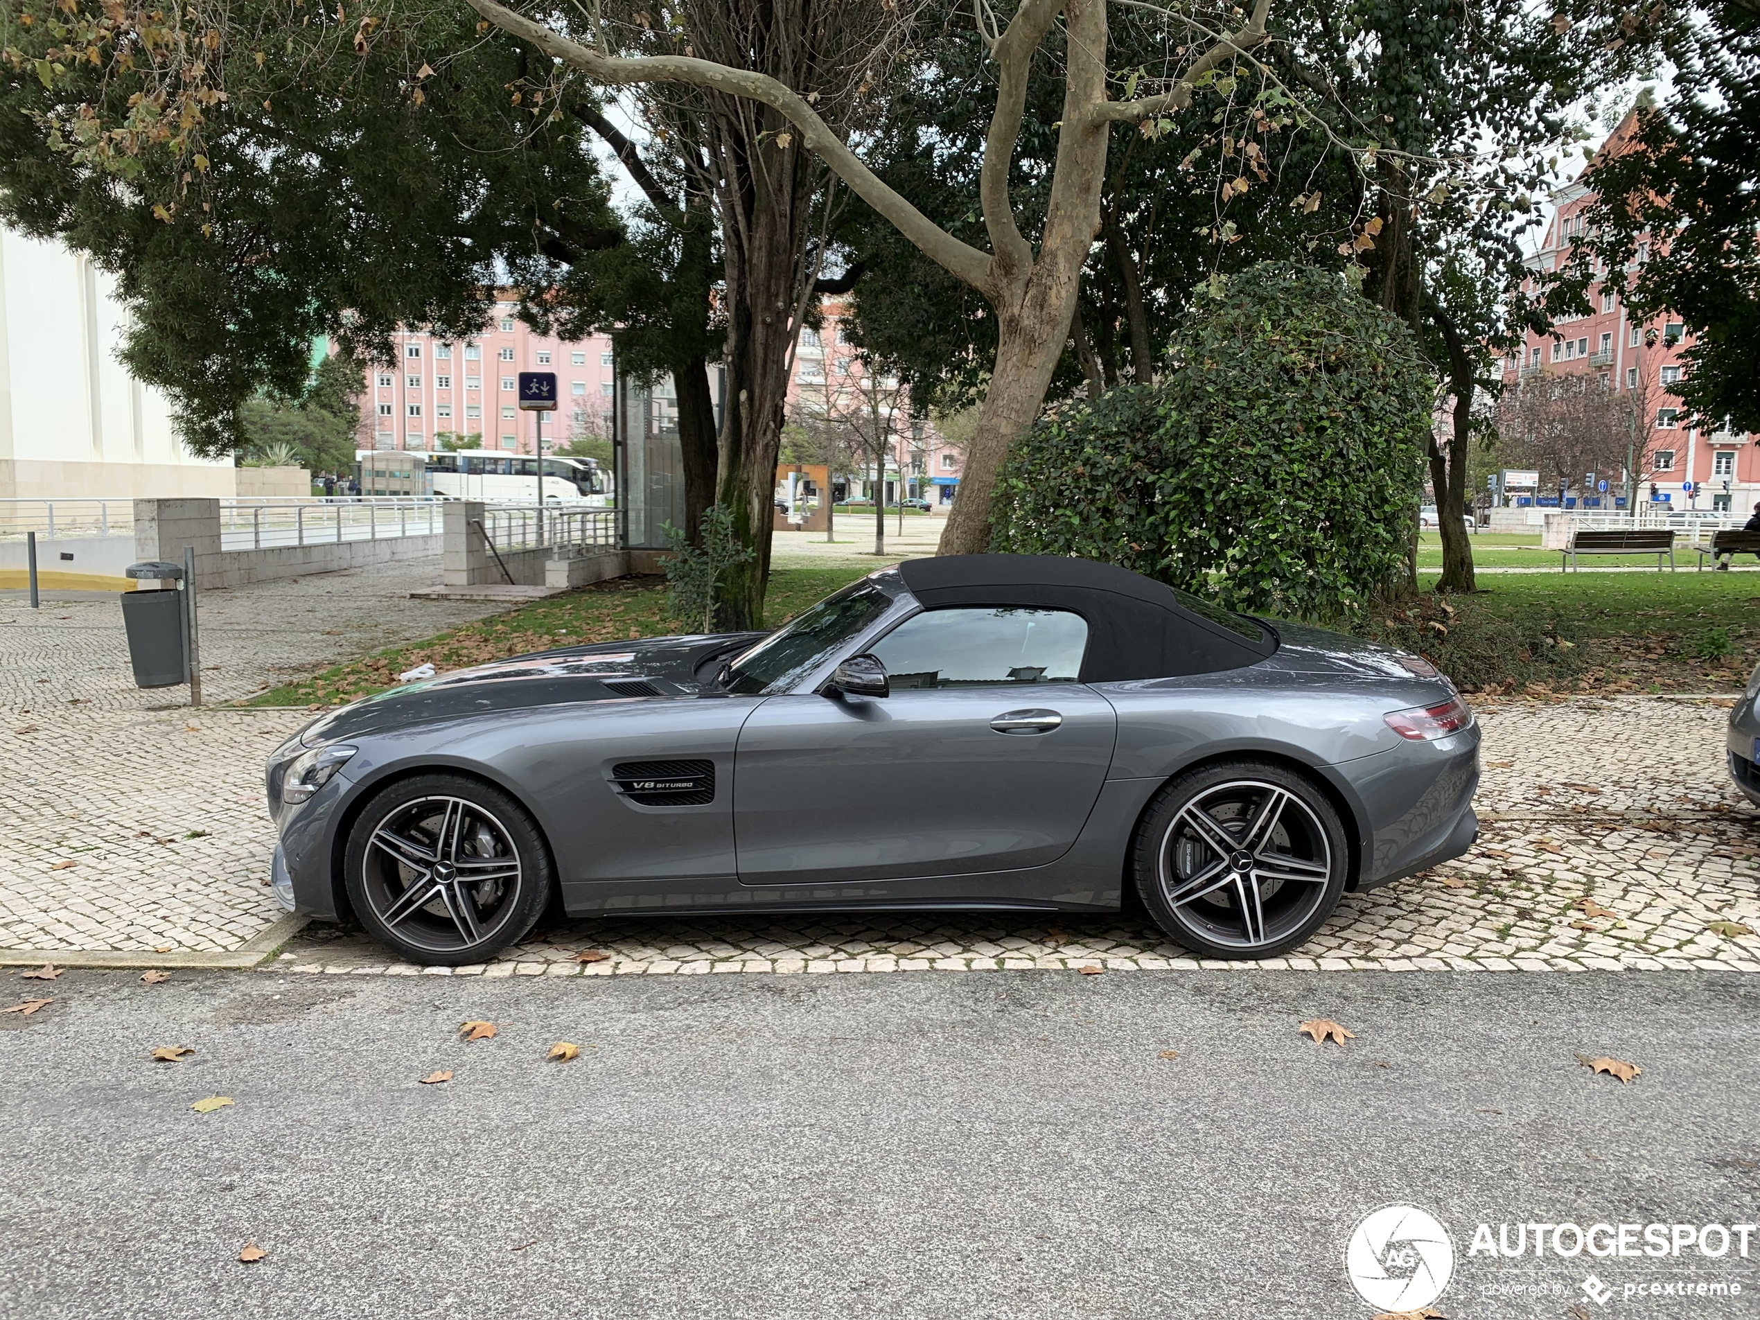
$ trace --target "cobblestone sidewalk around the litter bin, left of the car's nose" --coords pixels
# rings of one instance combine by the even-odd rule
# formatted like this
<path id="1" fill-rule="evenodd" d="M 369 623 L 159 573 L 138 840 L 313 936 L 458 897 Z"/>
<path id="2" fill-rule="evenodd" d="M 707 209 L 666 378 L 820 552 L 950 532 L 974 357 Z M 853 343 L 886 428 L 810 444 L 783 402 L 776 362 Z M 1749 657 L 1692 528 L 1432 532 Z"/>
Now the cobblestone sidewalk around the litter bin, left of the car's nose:
<path id="1" fill-rule="evenodd" d="M 209 702 L 495 605 L 410 600 L 440 556 L 201 597 Z M 139 690 L 114 595 L 0 593 L 0 949 L 224 952 L 269 929 L 260 771 L 306 711 Z"/>

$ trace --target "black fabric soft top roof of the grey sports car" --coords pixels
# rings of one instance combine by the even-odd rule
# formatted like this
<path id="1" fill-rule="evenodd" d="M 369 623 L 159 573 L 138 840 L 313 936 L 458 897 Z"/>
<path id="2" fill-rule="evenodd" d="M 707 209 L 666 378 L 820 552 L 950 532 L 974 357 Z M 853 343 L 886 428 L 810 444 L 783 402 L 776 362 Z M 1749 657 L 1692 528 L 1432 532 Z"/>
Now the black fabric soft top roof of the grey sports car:
<path id="1" fill-rule="evenodd" d="M 1181 600 L 1183 593 L 1165 583 L 1116 563 L 1060 554 L 943 554 L 906 560 L 898 570 L 926 609 L 1023 605 L 1081 614 L 1088 621 L 1082 683 L 1214 674 L 1278 649 L 1276 637 L 1251 620 L 1193 597 Z"/>

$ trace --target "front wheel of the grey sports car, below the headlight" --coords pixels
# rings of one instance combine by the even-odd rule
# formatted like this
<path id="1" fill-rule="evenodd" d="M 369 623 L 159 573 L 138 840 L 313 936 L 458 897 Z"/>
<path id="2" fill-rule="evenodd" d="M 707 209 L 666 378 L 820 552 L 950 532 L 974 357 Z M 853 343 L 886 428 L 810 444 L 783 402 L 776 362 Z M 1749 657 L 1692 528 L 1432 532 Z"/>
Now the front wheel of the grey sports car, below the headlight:
<path id="1" fill-rule="evenodd" d="M 368 799 L 343 884 L 373 938 L 428 966 L 488 961 L 532 931 L 556 889 L 530 813 L 463 774 L 419 774 Z"/>

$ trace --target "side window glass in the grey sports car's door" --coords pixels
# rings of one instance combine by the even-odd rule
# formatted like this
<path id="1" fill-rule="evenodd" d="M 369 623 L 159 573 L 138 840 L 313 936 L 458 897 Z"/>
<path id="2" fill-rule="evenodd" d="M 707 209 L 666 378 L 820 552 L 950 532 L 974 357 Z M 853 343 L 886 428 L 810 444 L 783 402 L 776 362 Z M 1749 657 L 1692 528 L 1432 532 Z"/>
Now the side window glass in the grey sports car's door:
<path id="1" fill-rule="evenodd" d="M 894 690 L 1075 683 L 1088 621 L 1067 609 L 931 609 L 869 648 Z"/>

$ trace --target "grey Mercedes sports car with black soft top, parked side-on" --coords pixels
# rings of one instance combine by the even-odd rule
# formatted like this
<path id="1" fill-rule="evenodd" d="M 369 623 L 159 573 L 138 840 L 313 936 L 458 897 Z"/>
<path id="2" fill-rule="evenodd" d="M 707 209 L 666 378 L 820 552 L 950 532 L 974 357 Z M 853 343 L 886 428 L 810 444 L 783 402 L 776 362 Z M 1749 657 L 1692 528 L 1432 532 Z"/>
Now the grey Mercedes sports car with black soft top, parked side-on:
<path id="1" fill-rule="evenodd" d="M 574 917 L 1116 912 L 1264 957 L 1471 847 L 1427 662 L 1118 567 L 973 554 L 785 628 L 570 646 L 331 711 L 269 760 L 275 891 L 405 957 Z"/>

